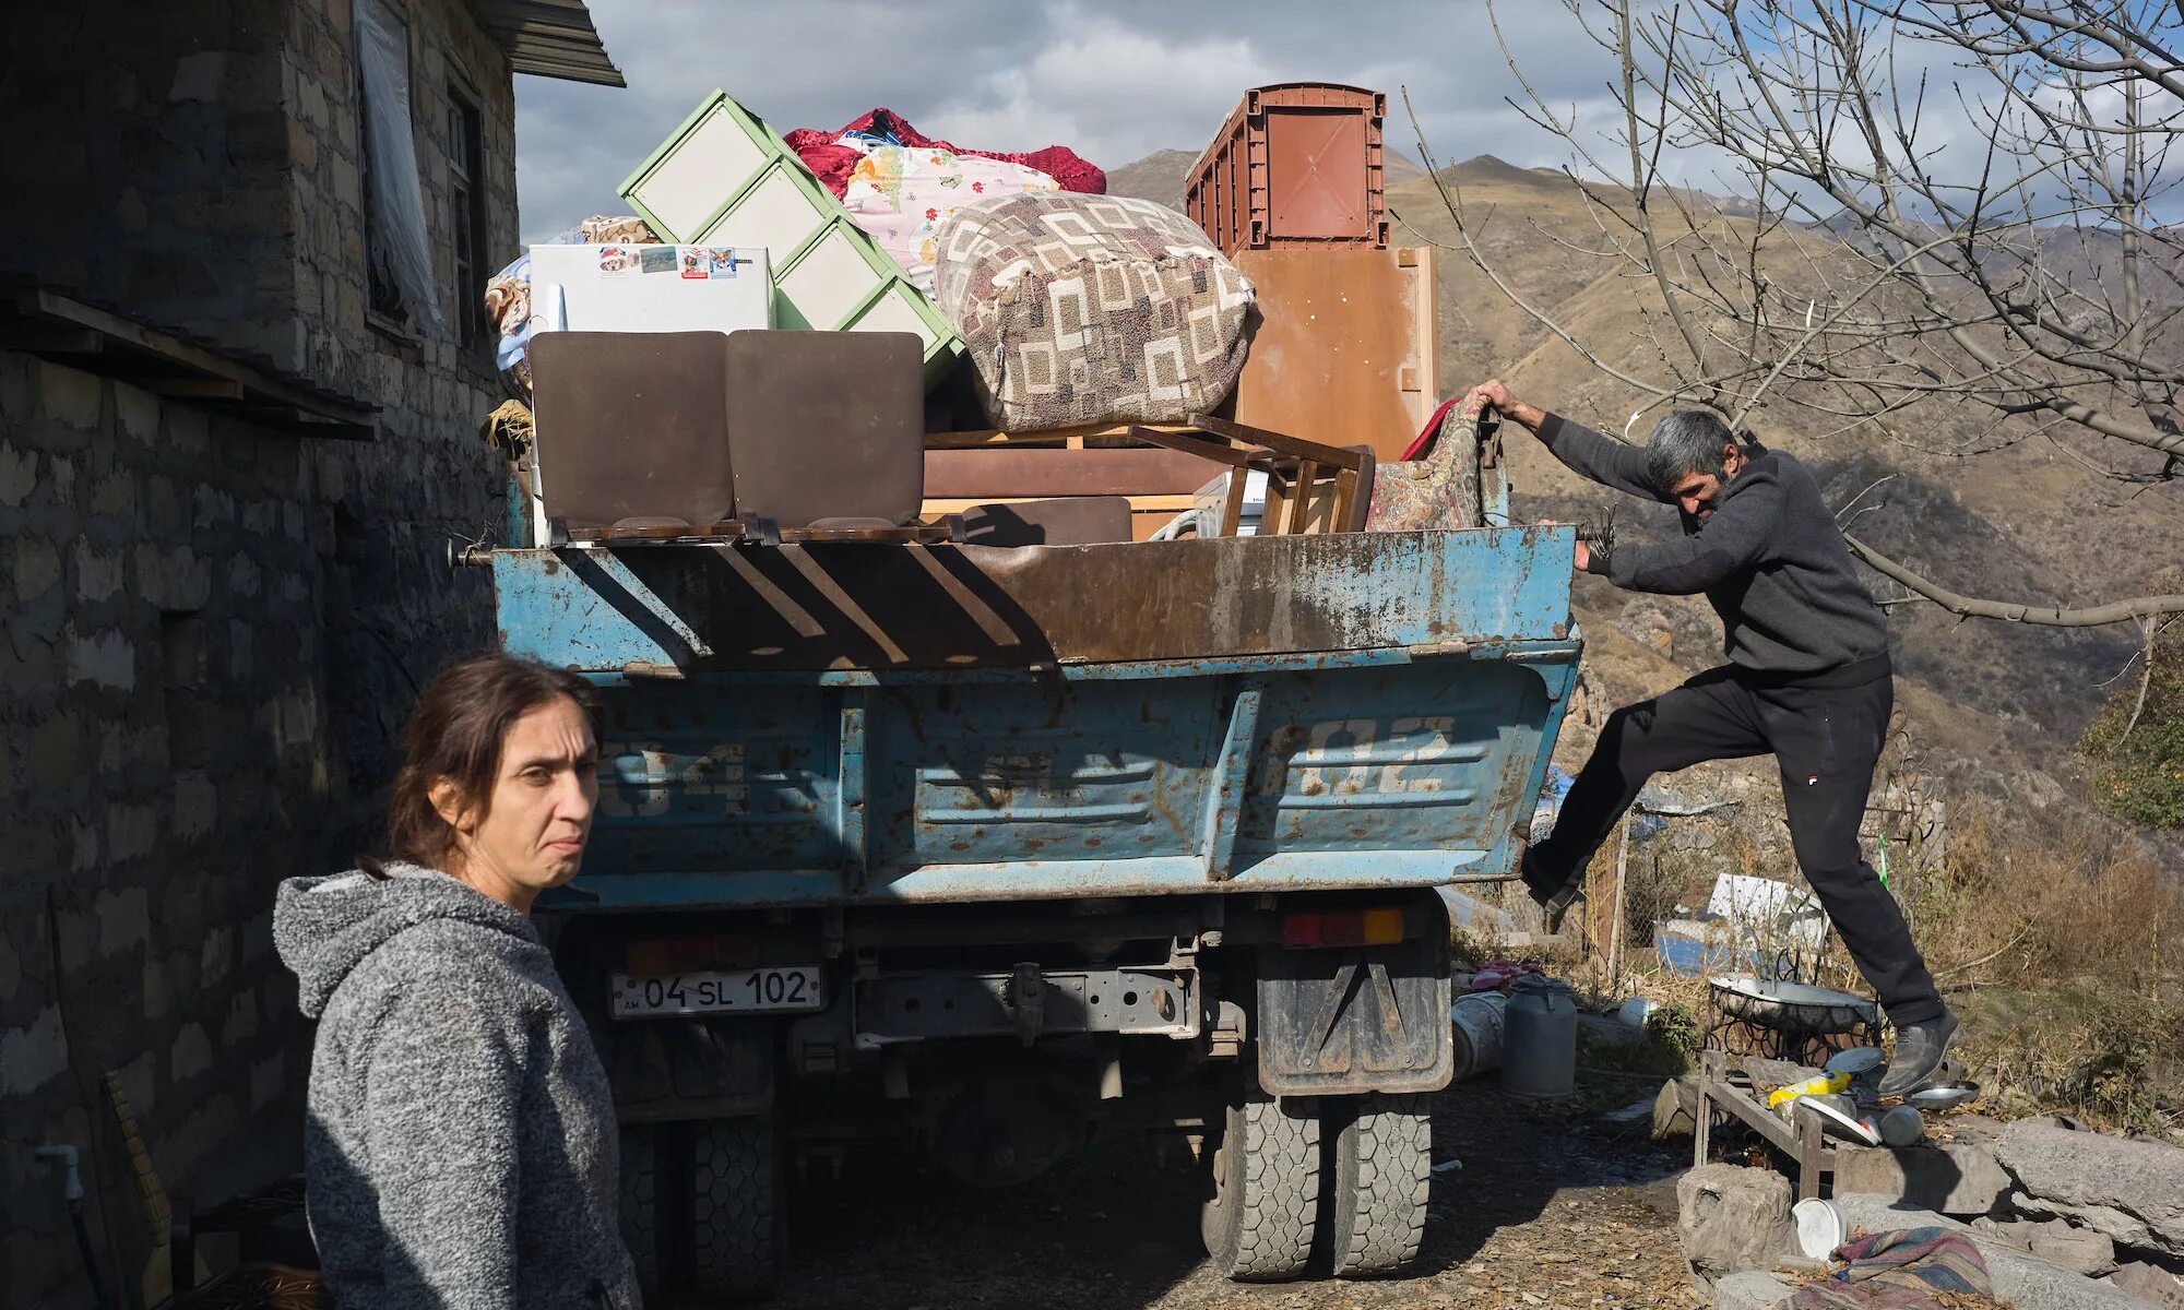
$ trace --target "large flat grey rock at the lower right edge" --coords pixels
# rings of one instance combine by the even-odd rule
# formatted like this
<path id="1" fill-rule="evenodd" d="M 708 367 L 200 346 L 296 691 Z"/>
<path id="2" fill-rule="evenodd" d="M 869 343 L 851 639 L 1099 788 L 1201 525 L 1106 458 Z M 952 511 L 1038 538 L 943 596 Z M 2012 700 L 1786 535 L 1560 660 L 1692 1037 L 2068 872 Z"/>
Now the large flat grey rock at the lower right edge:
<path id="1" fill-rule="evenodd" d="M 2027 1196 L 2025 1214 L 2068 1218 L 2118 1244 L 2184 1255 L 2184 1146 L 2009 1124 L 1996 1146 Z"/>

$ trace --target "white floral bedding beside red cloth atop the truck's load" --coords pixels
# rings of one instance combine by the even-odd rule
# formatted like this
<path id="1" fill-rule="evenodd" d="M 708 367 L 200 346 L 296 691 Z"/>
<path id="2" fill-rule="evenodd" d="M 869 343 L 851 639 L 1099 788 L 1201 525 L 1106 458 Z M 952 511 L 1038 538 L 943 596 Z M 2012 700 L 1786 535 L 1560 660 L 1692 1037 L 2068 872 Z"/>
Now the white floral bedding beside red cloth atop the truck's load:
<path id="1" fill-rule="evenodd" d="M 1053 177 L 1024 164 L 937 146 L 871 142 L 850 172 L 841 203 L 902 264 L 917 290 L 933 295 L 933 251 L 941 223 L 974 201 L 1053 190 L 1061 190 Z"/>

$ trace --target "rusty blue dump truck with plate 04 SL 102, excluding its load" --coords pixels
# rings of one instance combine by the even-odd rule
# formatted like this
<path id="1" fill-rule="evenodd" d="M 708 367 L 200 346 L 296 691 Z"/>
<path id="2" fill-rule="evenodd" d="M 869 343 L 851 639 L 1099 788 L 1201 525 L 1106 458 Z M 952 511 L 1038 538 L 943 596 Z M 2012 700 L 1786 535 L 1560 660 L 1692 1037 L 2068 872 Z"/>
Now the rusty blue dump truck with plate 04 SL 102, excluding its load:
<path id="1" fill-rule="evenodd" d="M 1415 1258 L 1435 889 L 1514 871 L 1570 555 L 1566 526 L 467 550 L 500 644 L 605 703 L 592 847 L 542 915 L 644 1282 L 762 1295 L 784 1168 L 876 1138 L 1009 1186 L 1168 1135 L 1230 1277 Z"/>

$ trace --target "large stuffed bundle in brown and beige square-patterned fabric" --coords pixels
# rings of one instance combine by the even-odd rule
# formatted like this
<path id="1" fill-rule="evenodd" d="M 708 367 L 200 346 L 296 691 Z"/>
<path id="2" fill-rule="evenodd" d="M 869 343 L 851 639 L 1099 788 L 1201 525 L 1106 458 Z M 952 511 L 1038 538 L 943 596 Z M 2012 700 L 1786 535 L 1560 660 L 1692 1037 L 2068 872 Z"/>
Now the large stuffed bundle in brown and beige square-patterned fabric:
<path id="1" fill-rule="evenodd" d="M 1251 284 L 1151 201 L 1026 192 L 935 234 L 935 299 L 996 428 L 1179 424 L 1236 386 Z"/>

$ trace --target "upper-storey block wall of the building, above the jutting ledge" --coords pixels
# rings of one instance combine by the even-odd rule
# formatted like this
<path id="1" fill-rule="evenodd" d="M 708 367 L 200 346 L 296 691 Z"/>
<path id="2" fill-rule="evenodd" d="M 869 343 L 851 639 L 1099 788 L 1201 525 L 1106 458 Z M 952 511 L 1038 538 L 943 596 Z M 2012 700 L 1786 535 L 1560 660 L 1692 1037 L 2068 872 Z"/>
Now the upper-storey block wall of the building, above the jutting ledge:
<path id="1" fill-rule="evenodd" d="M 515 255 L 515 92 L 465 0 L 387 0 L 441 325 L 367 327 L 354 0 L 76 0 L 11 13 L 0 269 L 380 400 L 402 367 L 483 373 L 456 343 L 450 96 L 480 111 L 487 266 Z M 472 288 L 474 290 L 474 288 Z"/>

